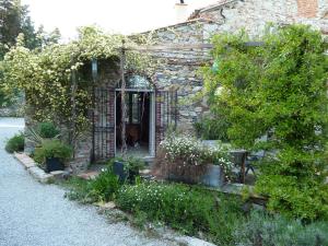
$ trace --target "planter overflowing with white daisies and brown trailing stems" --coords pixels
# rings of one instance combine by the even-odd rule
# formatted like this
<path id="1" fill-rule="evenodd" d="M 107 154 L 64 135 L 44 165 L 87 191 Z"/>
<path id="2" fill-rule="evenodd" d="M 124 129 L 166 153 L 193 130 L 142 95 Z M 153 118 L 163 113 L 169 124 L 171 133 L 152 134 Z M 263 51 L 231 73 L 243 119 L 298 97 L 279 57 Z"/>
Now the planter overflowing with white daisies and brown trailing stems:
<path id="1" fill-rule="evenodd" d="M 220 187 L 233 165 L 227 153 L 222 144 L 209 147 L 190 136 L 169 136 L 160 144 L 154 173 L 176 181 Z"/>

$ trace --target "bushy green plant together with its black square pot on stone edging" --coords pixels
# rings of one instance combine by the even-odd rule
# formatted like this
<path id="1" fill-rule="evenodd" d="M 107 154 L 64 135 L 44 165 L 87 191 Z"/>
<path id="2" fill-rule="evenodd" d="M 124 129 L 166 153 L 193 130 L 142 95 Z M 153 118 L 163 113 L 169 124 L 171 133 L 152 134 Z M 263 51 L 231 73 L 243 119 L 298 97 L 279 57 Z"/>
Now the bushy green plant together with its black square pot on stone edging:
<path id="1" fill-rule="evenodd" d="M 71 147 L 54 139 L 45 141 L 40 148 L 35 149 L 34 160 L 44 167 L 46 173 L 50 173 L 65 169 L 65 164 L 71 155 Z"/>

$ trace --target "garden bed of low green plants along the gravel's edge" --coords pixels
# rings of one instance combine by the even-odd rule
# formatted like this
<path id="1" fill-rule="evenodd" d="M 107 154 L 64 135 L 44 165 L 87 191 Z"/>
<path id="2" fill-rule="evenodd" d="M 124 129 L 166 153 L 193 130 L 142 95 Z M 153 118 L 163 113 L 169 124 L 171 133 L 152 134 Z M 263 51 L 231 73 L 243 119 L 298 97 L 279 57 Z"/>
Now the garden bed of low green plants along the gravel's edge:
<path id="1" fill-rule="evenodd" d="M 316 246 L 328 243 L 327 222 L 303 224 L 271 214 L 265 208 L 258 210 L 248 199 L 232 196 L 231 190 L 225 195 L 223 189 L 141 179 L 134 185 L 120 184 L 110 166 L 94 180 L 72 178 L 66 185 L 68 198 L 82 203 L 113 201 L 116 209 L 125 211 L 140 227 L 160 223 L 222 246 Z M 236 194 L 239 192 L 242 188 Z M 290 230 L 285 230 L 286 226 Z M 259 241 L 262 243 L 258 244 Z"/>

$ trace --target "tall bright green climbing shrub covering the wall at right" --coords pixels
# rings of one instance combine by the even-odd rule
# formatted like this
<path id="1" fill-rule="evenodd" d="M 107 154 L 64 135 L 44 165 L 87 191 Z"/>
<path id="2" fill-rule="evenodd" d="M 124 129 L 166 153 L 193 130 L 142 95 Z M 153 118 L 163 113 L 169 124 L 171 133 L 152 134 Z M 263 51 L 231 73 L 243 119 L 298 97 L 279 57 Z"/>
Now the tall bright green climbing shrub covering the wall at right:
<path id="1" fill-rule="evenodd" d="M 214 37 L 219 70 L 203 70 L 211 107 L 231 122 L 236 147 L 272 153 L 256 184 L 270 210 L 328 218 L 327 45 L 320 32 L 303 25 L 274 28 L 262 39 L 263 46 L 247 47 L 245 33 Z M 259 142 L 268 132 L 269 140 Z"/>

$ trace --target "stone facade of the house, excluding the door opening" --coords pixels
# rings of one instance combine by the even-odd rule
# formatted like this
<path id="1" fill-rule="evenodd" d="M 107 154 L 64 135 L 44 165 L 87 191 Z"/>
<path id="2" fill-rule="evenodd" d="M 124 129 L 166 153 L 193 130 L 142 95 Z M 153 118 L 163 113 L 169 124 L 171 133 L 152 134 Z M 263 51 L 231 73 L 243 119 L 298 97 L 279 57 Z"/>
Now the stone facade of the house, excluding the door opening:
<path id="1" fill-rule="evenodd" d="M 190 20 L 172 26 L 152 31 L 155 45 L 190 45 L 209 43 L 218 33 L 237 33 L 244 28 L 255 40 L 267 23 L 281 25 L 303 23 L 328 34 L 327 0 L 223 0 L 221 3 L 196 10 Z M 149 35 L 143 33 L 139 35 Z M 208 112 L 206 98 L 192 99 L 202 91 L 203 81 L 199 69 L 211 63 L 208 49 L 167 49 L 151 52 L 157 60 L 155 73 L 151 78 L 154 92 L 177 91 L 178 128 L 192 131 L 194 122 Z M 106 96 L 95 94 L 95 107 L 91 113 L 94 129 L 75 147 L 75 160 L 71 168 L 79 173 L 87 167 L 91 157 L 97 160 L 115 155 L 115 86 L 119 82 L 118 63 L 108 66 L 99 62 L 101 74 L 96 90 L 106 91 Z M 91 81 L 91 80 L 90 80 Z M 101 105 L 97 105 L 97 103 Z M 155 125 L 163 120 L 162 106 L 156 101 Z M 105 130 L 105 138 L 101 133 Z M 162 128 L 156 129 L 156 144 L 163 138 Z M 103 131 L 104 132 L 104 131 Z"/>

